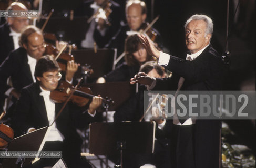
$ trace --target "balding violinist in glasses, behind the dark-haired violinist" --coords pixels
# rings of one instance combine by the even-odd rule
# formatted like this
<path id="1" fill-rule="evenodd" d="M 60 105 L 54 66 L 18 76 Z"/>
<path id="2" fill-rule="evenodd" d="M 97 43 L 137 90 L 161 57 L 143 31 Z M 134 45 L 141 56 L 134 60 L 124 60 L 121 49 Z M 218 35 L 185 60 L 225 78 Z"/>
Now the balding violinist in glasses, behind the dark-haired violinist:
<path id="1" fill-rule="evenodd" d="M 40 29 L 27 26 L 22 31 L 19 46 L 21 47 L 12 51 L 0 65 L 0 95 L 2 98 L 12 96 L 13 103 L 19 98 L 23 87 L 36 82 L 34 77 L 36 61 L 45 52 L 44 37 Z M 77 68 L 78 65 L 74 61 L 68 62 L 65 76 L 67 81 L 72 81 Z M 11 77 L 12 86 L 6 84 L 9 77 Z M 5 106 L 7 110 L 11 103 Z M 8 116 L 8 111 L 6 116 Z"/>

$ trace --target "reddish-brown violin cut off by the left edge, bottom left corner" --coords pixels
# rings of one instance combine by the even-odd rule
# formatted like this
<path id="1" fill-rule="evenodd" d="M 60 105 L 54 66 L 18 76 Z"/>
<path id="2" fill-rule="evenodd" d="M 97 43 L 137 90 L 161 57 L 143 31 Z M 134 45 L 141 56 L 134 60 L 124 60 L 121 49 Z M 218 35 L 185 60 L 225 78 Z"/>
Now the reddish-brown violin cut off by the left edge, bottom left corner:
<path id="1" fill-rule="evenodd" d="M 4 117 L 5 111 L 1 114 L 0 120 Z M 3 123 L 0 124 L 0 149 L 6 148 L 13 140 L 13 129 Z"/>

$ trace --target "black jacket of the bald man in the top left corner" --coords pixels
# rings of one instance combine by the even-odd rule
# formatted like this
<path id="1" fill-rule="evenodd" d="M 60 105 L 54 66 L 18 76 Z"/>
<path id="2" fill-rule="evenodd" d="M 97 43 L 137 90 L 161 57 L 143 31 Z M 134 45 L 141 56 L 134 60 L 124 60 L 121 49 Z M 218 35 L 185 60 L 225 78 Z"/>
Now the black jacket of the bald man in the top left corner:
<path id="1" fill-rule="evenodd" d="M 0 64 L 14 49 L 13 37 L 9 36 L 10 33 L 11 30 L 7 23 L 0 26 Z"/>

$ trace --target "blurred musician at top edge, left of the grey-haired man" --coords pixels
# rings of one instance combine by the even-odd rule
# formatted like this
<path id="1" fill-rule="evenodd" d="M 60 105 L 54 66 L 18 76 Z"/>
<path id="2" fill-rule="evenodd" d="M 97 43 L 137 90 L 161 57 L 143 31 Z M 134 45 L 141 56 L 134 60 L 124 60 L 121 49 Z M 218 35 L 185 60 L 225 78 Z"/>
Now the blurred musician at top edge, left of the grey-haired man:
<path id="1" fill-rule="evenodd" d="M 120 6 L 112 0 L 84 1 L 75 15 L 91 18 L 81 48 L 103 48 L 120 27 Z"/>

